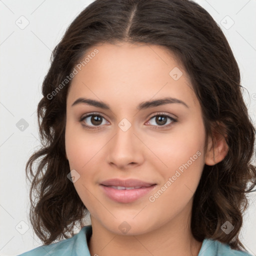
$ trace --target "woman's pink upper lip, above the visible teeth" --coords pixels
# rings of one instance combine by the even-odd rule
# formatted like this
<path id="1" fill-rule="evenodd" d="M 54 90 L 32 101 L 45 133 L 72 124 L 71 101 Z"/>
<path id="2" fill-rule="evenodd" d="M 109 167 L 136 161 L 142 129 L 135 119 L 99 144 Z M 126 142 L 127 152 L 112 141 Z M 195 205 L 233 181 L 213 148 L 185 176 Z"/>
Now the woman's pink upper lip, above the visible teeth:
<path id="1" fill-rule="evenodd" d="M 133 187 L 133 186 L 151 186 L 155 183 L 145 182 L 139 179 L 118 179 L 118 178 L 111 178 L 104 180 L 100 183 L 101 185 L 105 186 L 124 186 L 124 187 Z"/>

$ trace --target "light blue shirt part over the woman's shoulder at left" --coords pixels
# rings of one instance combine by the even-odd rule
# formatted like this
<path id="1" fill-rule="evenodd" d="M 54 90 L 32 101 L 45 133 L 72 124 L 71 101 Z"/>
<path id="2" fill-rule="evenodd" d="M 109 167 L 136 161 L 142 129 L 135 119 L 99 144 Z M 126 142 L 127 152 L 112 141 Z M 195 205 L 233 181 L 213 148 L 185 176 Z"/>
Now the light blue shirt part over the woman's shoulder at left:
<path id="1" fill-rule="evenodd" d="M 70 238 L 51 243 L 48 245 L 41 245 L 29 251 L 26 251 L 17 256 L 62 256 L 62 255 L 78 255 L 77 251 L 83 252 L 84 256 L 89 256 L 86 236 L 90 234 L 91 226 L 84 226 L 81 230 Z"/>

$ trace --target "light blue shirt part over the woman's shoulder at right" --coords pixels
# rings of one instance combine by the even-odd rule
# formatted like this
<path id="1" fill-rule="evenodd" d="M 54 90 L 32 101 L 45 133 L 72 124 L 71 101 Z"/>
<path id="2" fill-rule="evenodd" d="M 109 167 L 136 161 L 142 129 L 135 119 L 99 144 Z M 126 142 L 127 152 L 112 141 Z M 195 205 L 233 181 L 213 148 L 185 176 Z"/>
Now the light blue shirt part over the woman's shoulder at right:
<path id="1" fill-rule="evenodd" d="M 198 256 L 252 256 L 248 252 L 231 249 L 227 243 L 210 238 L 203 240 Z"/>

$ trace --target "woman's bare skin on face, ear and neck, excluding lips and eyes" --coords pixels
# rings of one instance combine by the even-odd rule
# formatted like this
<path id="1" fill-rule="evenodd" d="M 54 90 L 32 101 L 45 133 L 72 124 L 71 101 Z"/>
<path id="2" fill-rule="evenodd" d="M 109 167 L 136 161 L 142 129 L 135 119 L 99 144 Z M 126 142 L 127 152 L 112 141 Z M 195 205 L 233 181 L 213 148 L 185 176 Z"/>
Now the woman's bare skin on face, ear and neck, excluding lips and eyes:
<path id="1" fill-rule="evenodd" d="M 94 45 L 86 55 L 95 48 L 99 52 L 72 79 L 65 128 L 70 170 L 80 175 L 73 184 L 91 216 L 90 254 L 197 255 L 202 243 L 190 230 L 193 194 L 204 164 L 213 165 L 226 155 L 225 140 L 215 135 L 214 148 L 208 139 L 204 151 L 206 135 L 199 101 L 185 70 L 164 47 L 104 43 Z M 178 80 L 169 75 L 174 67 L 183 73 Z M 171 103 L 136 109 L 142 101 L 166 96 L 180 99 L 188 107 Z M 87 104 L 71 106 L 78 97 L 101 100 L 111 110 Z M 79 121 L 93 112 L 103 116 L 98 126 L 91 116 Z M 159 112 L 177 121 L 167 118 L 164 125 L 171 125 L 161 129 L 153 117 Z M 123 118 L 131 124 L 126 131 L 118 126 Z M 155 201 L 149 201 L 148 197 L 198 151 L 200 156 Z M 157 185 L 150 194 L 119 203 L 99 186 L 101 181 L 115 177 Z M 119 228 L 123 221 L 130 226 L 127 233 Z"/>

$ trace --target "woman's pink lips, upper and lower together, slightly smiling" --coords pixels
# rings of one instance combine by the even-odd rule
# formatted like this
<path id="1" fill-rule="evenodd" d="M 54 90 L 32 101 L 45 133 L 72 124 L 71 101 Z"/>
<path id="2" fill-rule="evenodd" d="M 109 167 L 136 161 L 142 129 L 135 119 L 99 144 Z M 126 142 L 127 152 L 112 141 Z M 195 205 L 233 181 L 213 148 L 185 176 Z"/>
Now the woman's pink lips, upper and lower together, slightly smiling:
<path id="1" fill-rule="evenodd" d="M 124 186 L 124 187 L 133 187 L 133 186 L 142 186 L 141 188 L 134 189 L 116 189 L 113 186 Z M 108 179 L 103 181 L 100 184 L 103 192 L 112 200 L 122 203 L 129 203 L 137 200 L 138 198 L 149 193 L 154 187 L 155 183 L 148 183 L 138 179 Z"/>

